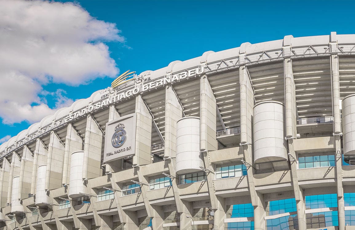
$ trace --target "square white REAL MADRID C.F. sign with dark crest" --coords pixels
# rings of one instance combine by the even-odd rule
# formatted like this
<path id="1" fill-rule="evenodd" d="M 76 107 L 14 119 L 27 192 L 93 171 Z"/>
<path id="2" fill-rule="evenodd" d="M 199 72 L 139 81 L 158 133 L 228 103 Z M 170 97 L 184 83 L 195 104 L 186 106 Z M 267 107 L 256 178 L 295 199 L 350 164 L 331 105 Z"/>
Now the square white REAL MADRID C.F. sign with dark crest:
<path id="1" fill-rule="evenodd" d="M 133 113 L 106 124 L 104 162 L 135 154 L 136 119 Z"/>

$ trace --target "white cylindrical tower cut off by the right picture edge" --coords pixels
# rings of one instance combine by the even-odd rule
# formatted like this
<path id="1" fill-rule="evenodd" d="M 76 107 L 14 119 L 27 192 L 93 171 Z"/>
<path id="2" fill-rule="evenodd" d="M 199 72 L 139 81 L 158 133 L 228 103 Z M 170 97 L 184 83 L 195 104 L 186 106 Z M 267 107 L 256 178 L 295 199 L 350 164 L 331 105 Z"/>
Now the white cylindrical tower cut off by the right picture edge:
<path id="1" fill-rule="evenodd" d="M 344 155 L 355 154 L 355 94 L 342 101 L 343 150 Z"/>

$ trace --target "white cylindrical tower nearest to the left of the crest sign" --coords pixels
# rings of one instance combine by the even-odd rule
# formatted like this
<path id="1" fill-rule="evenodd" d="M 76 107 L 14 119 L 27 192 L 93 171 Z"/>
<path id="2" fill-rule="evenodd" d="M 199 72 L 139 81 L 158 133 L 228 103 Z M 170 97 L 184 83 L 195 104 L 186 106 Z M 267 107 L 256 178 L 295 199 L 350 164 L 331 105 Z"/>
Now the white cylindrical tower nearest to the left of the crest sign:
<path id="1" fill-rule="evenodd" d="M 84 162 L 84 151 L 77 151 L 71 154 L 69 191 L 71 198 L 82 196 L 80 192 L 87 193 L 87 187 L 82 178 Z"/>

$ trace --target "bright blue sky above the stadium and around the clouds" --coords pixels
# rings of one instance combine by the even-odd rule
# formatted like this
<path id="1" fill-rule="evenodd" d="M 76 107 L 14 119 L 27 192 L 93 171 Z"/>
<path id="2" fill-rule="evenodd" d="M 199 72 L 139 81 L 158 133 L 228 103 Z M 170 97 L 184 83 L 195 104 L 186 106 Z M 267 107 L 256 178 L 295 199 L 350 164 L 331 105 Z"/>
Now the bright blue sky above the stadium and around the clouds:
<path id="1" fill-rule="evenodd" d="M 201 56 L 208 50 L 283 39 L 290 34 L 303 37 L 328 35 L 331 31 L 354 33 L 353 1 L 85 0 L 75 3 L 97 20 L 115 23 L 121 30 L 119 34 L 125 38 L 124 42 L 107 38 L 88 41 L 99 40 L 106 44 L 120 72 L 155 70 L 175 60 Z M 55 26 L 51 29 L 56 30 Z M 55 108 L 58 95 L 53 92 L 56 90 L 64 90 L 66 94 L 62 95 L 75 101 L 107 88 L 113 77 L 101 74 L 100 78 L 93 76 L 73 85 L 54 83 L 49 76 L 49 80 L 40 85 L 52 93 L 39 93 L 39 98 L 49 108 Z M 38 103 L 35 101 L 31 106 Z M 4 106 L 6 108 L 6 103 Z M 31 124 L 31 121 L 19 123 L 18 120 L 4 124 L 4 117 L 0 117 L 0 122 L 0 140 L 16 135 Z"/>

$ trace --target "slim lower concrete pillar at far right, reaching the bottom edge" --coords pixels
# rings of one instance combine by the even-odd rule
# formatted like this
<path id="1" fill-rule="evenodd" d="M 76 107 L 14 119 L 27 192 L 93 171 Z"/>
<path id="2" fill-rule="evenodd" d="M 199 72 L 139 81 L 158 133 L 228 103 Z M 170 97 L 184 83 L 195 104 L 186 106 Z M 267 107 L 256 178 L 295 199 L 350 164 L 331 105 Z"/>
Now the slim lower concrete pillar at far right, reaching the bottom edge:
<path id="1" fill-rule="evenodd" d="M 343 191 L 343 169 L 340 135 L 334 136 L 335 139 L 335 160 L 337 172 L 337 193 L 338 193 L 338 221 L 339 230 L 345 230 L 345 210 L 344 210 L 344 191 Z"/>

